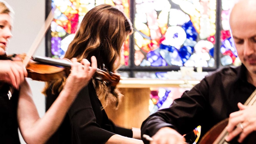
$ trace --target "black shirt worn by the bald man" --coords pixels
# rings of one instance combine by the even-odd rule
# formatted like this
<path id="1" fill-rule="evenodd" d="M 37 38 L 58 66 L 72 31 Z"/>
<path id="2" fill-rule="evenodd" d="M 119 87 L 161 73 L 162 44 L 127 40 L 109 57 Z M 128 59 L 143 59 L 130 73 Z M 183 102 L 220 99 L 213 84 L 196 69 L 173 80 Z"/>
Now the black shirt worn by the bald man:
<path id="1" fill-rule="evenodd" d="M 212 126 L 238 111 L 237 103 L 244 103 L 254 90 L 255 86 L 246 80 L 244 65 L 224 67 L 185 91 L 169 108 L 150 115 L 141 126 L 141 134 L 153 136 L 165 126 L 186 134 L 200 125 L 201 138 Z M 145 139 L 143 142 L 148 143 Z"/>

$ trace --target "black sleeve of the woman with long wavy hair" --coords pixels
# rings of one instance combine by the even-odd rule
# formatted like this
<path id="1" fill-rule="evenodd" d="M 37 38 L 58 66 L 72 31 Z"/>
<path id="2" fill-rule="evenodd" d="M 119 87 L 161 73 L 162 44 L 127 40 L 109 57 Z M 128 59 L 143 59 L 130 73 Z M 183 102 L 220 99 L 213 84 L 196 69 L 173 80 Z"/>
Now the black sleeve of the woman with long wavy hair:
<path id="1" fill-rule="evenodd" d="M 69 111 L 72 128 L 72 143 L 105 143 L 114 133 L 102 129 L 96 123 L 96 117 L 91 106 L 89 90 L 83 88 Z"/>

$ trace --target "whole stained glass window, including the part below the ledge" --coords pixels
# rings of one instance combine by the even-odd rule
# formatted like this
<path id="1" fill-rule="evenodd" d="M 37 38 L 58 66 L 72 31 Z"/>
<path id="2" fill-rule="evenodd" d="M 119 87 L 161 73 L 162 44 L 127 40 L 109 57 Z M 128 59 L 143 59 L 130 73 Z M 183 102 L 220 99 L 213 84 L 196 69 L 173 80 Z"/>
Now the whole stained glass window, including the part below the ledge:
<path id="1" fill-rule="evenodd" d="M 229 12 L 234 0 L 51 0 L 56 7 L 46 45 L 47 56 L 62 58 L 83 16 L 99 4 L 118 7 L 134 25 L 122 49 L 119 73 L 125 77 L 174 79 L 172 70 L 204 71 L 239 65 L 230 36 Z M 220 23 L 218 25 L 217 23 Z M 205 75 L 205 74 L 203 74 Z M 168 107 L 173 95 L 189 88 L 152 89 L 149 110 Z"/>

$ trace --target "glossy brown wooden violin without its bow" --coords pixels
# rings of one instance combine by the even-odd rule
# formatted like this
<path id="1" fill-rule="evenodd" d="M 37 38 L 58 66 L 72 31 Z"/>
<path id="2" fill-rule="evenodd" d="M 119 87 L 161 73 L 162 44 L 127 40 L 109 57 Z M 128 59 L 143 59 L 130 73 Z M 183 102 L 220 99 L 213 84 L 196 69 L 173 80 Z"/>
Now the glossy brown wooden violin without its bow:
<path id="1" fill-rule="evenodd" d="M 17 57 L 24 59 L 26 54 L 12 55 L 12 58 Z M 69 59 L 55 59 L 43 56 L 32 56 L 29 63 L 26 66 L 28 77 L 32 80 L 38 81 L 52 81 L 62 77 L 67 77 L 70 74 L 72 62 Z M 91 68 L 91 67 L 89 67 Z M 107 69 L 96 69 L 93 76 L 95 79 L 102 81 L 103 83 L 116 87 L 119 83 L 120 76 L 113 72 L 107 72 Z"/>

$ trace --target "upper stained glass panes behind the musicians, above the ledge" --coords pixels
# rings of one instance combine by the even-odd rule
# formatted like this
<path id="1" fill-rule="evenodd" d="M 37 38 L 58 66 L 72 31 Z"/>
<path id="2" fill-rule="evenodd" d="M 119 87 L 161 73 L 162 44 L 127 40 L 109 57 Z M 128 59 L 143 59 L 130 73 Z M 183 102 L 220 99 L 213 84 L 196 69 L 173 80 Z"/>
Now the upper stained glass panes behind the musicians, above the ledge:
<path id="1" fill-rule="evenodd" d="M 134 7 L 129 5 L 129 0 L 52 0 L 52 7 L 56 7 L 51 23 L 52 37 L 56 37 L 55 40 L 61 38 L 61 50 L 65 52 L 67 49 L 73 36 L 65 38 L 75 33 L 86 12 L 103 3 L 116 5 L 128 17 L 130 9 L 135 12 L 132 13 L 135 43 L 131 47 L 134 61 L 129 61 L 127 37 L 122 46 L 122 64 L 125 66 L 132 63 L 136 67 L 153 66 L 155 69 L 172 65 L 216 67 L 216 0 L 136 0 Z M 239 64 L 228 23 L 234 3 L 232 0 L 221 1 L 221 31 L 218 32 L 220 59 L 223 58 L 219 61 L 223 66 L 229 65 L 231 60 L 231 64 Z M 61 57 L 63 52 L 59 50 L 62 54 L 58 53 L 56 43 L 52 45 L 52 54 Z"/>

